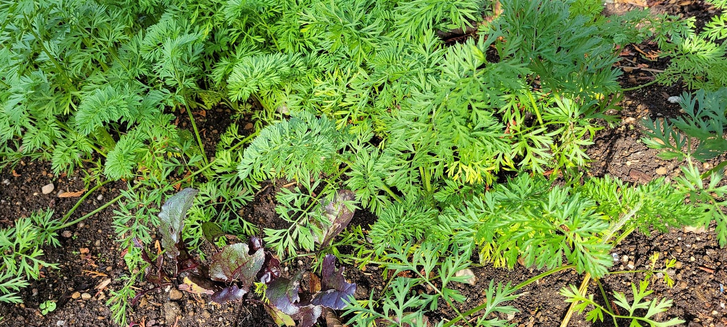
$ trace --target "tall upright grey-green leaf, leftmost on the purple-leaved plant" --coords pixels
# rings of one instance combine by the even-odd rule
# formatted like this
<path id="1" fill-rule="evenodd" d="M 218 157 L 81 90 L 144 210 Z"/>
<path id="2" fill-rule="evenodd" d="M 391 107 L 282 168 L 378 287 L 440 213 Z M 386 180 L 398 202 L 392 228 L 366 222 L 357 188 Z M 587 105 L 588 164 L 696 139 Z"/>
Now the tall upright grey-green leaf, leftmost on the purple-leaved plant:
<path id="1" fill-rule="evenodd" d="M 161 246 L 164 247 L 166 255 L 169 257 L 177 257 L 180 254 L 176 245 L 182 238 L 184 218 L 187 216 L 187 210 L 192 207 L 197 192 L 196 189 L 188 187 L 174 194 L 161 206 L 161 212 L 159 212 Z"/>

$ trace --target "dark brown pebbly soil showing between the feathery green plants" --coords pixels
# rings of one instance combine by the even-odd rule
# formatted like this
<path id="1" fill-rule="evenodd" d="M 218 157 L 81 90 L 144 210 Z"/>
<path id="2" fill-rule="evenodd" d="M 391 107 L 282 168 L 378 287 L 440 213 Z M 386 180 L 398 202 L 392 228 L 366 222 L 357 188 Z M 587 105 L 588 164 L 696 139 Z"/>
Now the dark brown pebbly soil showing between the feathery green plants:
<path id="1" fill-rule="evenodd" d="M 616 4 L 608 5 L 608 10 L 619 13 L 635 7 L 624 2 L 639 1 L 616 1 Z M 715 13 L 702 1 L 649 0 L 647 4 L 654 12 L 668 12 L 684 17 L 696 16 L 698 25 L 703 25 Z M 646 53 L 652 49 L 650 44 L 638 46 Z M 621 80 L 625 88 L 648 83 L 653 76 L 650 70 L 662 70 L 667 65 L 664 60 L 647 59 L 636 49 L 624 50 L 628 51 L 618 65 L 625 72 Z M 639 141 L 643 135 L 640 133 L 643 128 L 639 122 L 645 117 L 679 115 L 678 105 L 670 104 L 666 99 L 669 96 L 678 96 L 682 91 L 684 90 L 681 86 L 653 85 L 627 92 L 620 104 L 624 109 L 617 113 L 622 117 L 622 122 L 598 133 L 595 144 L 588 149 L 588 154 L 593 159 L 589 174 L 612 175 L 634 183 L 646 183 L 661 175 L 667 178 L 678 175 L 680 162 L 659 160 L 655 150 L 648 149 Z M 208 157 L 212 157 L 214 144 L 220 133 L 231 123 L 230 112 L 225 109 L 212 109 L 203 114 L 196 109 L 193 113 L 205 144 L 205 152 Z M 181 128 L 190 129 L 188 116 L 179 116 L 177 124 Z M 241 131 L 245 125 L 241 123 Z M 76 204 L 77 197 L 61 198 L 57 194 L 61 190 L 86 189 L 79 179 L 82 174 L 54 176 L 49 171 L 47 163 L 21 162 L 15 170 L 6 169 L 0 172 L 0 181 L 9 181 L 8 185 L 0 184 L 0 227 L 12 225 L 16 218 L 46 208 L 55 210 L 55 218 L 60 218 Z M 47 195 L 41 194 L 41 187 L 47 183 L 54 183 L 55 191 Z M 268 189 L 257 194 L 255 201 L 246 208 L 244 218 L 265 227 L 284 224 L 274 211 L 274 194 L 281 184 L 270 185 Z M 108 199 L 117 196 L 119 188 L 123 187 L 124 183 L 116 183 L 99 189 L 81 204 L 71 220 L 95 210 Z M 4 320 L 0 320 L 0 326 L 113 325 L 105 299 L 108 299 L 112 290 L 121 287 L 121 278 L 127 274 L 120 255 L 123 249 L 119 249 L 114 241 L 117 237 L 112 227 L 113 209 L 114 206 L 109 207 L 84 222 L 67 228 L 64 231 L 70 232 L 70 235 L 66 233 L 65 236 L 69 237 L 59 236 L 60 247 L 44 249 L 47 260 L 59 263 L 60 269 L 44 269 L 44 278 L 31 281 L 31 286 L 20 293 L 25 301 L 23 305 L 0 305 L 0 316 L 4 317 Z M 368 212 L 358 212 L 352 225 L 367 228 L 374 219 Z M 666 320 L 679 317 L 687 320 L 684 326 L 690 327 L 727 326 L 727 294 L 723 290 L 727 284 L 727 251 L 716 244 L 713 229 L 704 232 L 675 230 L 654 233 L 651 236 L 634 233 L 616 247 L 614 252 L 623 262 L 616 262 L 611 269 L 613 272 L 645 269 L 649 263 L 648 257 L 654 253 L 660 254 L 660 262 L 664 258 L 677 260 L 677 268 L 673 271 L 673 288 L 658 280 L 651 283 L 651 288 L 654 289 L 652 297 L 666 297 L 674 301 L 672 309 L 659 318 Z M 305 257 L 287 262 L 284 266 L 285 274 L 297 271 L 309 263 L 310 258 Z M 461 310 L 481 304 L 490 281 L 515 284 L 539 273 L 522 266 L 506 270 L 483 265 L 473 270 L 478 279 L 475 286 L 456 286 L 467 297 L 467 301 L 460 307 Z M 383 289 L 384 280 L 376 267 L 369 266 L 361 271 L 348 266 L 347 277 L 358 283 L 358 299 L 368 297 L 371 290 L 379 293 Z M 111 279 L 108 286 L 95 289 L 108 278 Z M 559 326 L 568 310 L 568 304 L 563 302 L 564 298 L 558 295 L 558 291 L 569 284 L 578 286 L 582 278 L 582 275 L 571 270 L 542 278 L 523 289 L 523 295 L 512 303 L 520 312 L 502 318 L 510 320 L 515 326 Z M 602 283 L 607 292 L 622 291 L 630 294 L 630 283 L 638 282 L 640 278 L 643 278 L 641 273 L 617 273 L 603 278 Z M 138 286 L 141 289 L 150 287 L 145 283 Z M 591 282 L 589 290 L 598 294 L 597 284 Z M 74 299 L 76 292 L 88 293 L 91 297 Z M 46 300 L 57 301 L 57 309 L 44 316 L 38 307 Z M 443 309 L 445 316 L 447 311 Z M 129 312 L 129 318 L 148 327 L 274 326 L 267 313 L 254 302 L 210 305 L 209 299 L 194 297 L 188 293 L 184 293 L 182 299 L 172 301 L 164 290 L 143 297 L 133 312 Z M 619 326 L 627 325 L 619 322 Z M 585 322 L 582 315 L 575 315 L 569 326 L 613 326 L 613 323 L 607 320 L 605 323 L 592 325 Z"/>

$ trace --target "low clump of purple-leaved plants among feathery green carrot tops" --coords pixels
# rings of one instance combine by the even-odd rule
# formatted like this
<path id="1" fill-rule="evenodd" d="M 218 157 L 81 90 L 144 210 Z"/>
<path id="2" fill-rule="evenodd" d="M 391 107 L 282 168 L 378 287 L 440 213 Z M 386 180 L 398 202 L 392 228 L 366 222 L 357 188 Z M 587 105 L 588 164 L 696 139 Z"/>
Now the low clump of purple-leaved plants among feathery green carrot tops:
<path id="1" fill-rule="evenodd" d="M 174 260 L 174 272 L 165 270 L 164 255 L 151 260 L 145 247 L 134 239 L 134 247 L 140 249 L 142 260 L 149 264 L 145 270 L 145 279 L 154 287 L 137 294 L 132 305 L 149 291 L 176 283 L 181 290 L 211 294 L 212 301 L 220 304 L 237 300 L 261 302 L 278 324 L 310 327 L 326 310 L 342 310 L 346 307 L 346 301 L 353 298 L 356 283 L 345 280 L 344 268 L 335 267 L 336 257 L 333 255 L 324 257 L 321 288 L 312 290 L 312 294 L 300 294 L 300 281 L 305 270 L 292 278 L 282 278 L 280 260 L 265 249 L 262 240 L 255 236 L 247 243 L 222 247 L 212 255 L 209 265 L 202 265 L 189 255 L 182 240 L 186 212 L 192 206 L 196 194 L 196 189 L 183 189 L 166 200 L 158 215 L 161 220 L 161 244 L 166 257 Z M 347 196 L 342 198 L 348 199 Z M 329 215 L 332 215 L 332 226 L 326 231 L 326 243 L 348 225 L 353 215 L 350 210 L 334 205 L 326 207 Z M 202 227 L 205 238 L 210 242 L 224 235 L 214 223 L 204 223 Z M 178 282 L 180 279 L 182 283 Z M 254 293 L 250 292 L 254 283 L 266 285 L 265 301 L 256 299 Z"/>

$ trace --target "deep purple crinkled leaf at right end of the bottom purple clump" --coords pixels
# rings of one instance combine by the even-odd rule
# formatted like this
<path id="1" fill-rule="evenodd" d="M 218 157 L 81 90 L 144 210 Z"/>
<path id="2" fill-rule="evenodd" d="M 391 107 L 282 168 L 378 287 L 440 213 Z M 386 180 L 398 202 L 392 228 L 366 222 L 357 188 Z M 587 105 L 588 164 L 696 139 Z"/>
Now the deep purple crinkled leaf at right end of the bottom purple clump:
<path id="1" fill-rule="evenodd" d="M 356 283 L 348 283 L 343 277 L 345 268 L 336 269 L 336 257 L 326 254 L 321 270 L 321 291 L 313 294 L 310 303 L 323 305 L 334 310 L 343 310 L 347 306 L 346 300 L 353 297 L 356 292 Z"/>

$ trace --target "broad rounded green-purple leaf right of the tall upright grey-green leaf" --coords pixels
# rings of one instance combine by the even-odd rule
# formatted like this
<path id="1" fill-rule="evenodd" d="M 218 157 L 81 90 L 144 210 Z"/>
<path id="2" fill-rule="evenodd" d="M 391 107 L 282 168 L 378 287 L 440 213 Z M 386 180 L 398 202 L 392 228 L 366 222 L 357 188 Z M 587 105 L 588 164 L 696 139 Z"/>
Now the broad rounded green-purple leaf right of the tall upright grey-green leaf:
<path id="1" fill-rule="evenodd" d="M 225 283 L 239 280 L 244 285 L 251 285 L 265 262 L 265 250 L 258 249 L 252 254 L 249 251 L 250 248 L 244 243 L 230 244 L 222 248 L 222 251 L 212 256 L 209 278 Z"/>

